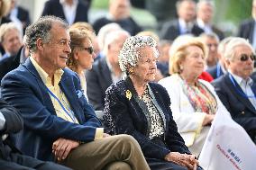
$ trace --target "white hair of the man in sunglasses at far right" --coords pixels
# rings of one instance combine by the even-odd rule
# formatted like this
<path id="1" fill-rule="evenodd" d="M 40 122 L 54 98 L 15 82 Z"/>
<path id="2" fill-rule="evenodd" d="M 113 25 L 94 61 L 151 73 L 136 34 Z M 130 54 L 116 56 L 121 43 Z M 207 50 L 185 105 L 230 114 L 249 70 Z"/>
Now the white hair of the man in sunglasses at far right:
<path id="1" fill-rule="evenodd" d="M 240 37 L 234 37 L 232 40 L 230 40 L 225 47 L 224 50 L 224 58 L 228 59 L 228 60 L 233 60 L 233 58 L 235 57 L 235 48 L 237 46 L 247 46 L 251 49 L 251 51 L 253 52 L 253 54 L 255 54 L 254 49 L 252 48 L 251 44 L 249 43 L 248 40 L 245 40 L 243 38 Z"/>

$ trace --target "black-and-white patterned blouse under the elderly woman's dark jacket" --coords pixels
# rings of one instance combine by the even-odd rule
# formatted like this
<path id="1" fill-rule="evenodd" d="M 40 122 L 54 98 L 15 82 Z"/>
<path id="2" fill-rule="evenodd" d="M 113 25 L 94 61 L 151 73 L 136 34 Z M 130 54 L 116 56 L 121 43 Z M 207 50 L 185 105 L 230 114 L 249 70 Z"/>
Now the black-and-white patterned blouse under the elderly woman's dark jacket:
<path id="1" fill-rule="evenodd" d="M 160 117 L 160 112 L 157 110 L 154 103 L 152 103 L 149 87 L 147 87 L 142 94 L 142 101 L 147 105 L 151 117 L 151 131 L 149 138 L 153 139 L 162 136 L 164 134 L 163 120 Z"/>

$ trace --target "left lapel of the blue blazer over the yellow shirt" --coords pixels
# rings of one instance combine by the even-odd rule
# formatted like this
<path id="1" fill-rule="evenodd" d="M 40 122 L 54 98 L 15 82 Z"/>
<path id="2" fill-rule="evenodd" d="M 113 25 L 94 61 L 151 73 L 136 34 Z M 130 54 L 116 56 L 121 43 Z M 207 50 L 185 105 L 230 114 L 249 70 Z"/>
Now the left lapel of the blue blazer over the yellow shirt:
<path id="1" fill-rule="evenodd" d="M 52 114 L 56 114 L 54 106 L 51 102 L 50 99 L 50 94 L 48 93 L 47 87 L 46 85 L 44 85 L 44 83 L 41 80 L 41 76 L 38 74 L 37 70 L 35 69 L 35 67 L 32 65 L 32 61 L 30 58 L 26 59 L 26 62 L 24 64 L 22 64 L 23 67 L 25 67 L 35 78 L 35 81 L 37 83 L 37 85 L 39 86 L 40 92 L 41 92 L 41 98 L 42 103 L 48 107 L 49 112 L 51 112 Z"/>

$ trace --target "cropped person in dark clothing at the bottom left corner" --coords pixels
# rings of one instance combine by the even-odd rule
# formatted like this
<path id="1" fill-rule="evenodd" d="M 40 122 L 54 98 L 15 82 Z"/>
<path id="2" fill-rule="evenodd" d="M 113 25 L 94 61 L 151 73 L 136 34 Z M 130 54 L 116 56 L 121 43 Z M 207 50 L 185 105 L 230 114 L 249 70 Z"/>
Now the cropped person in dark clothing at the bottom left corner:
<path id="1" fill-rule="evenodd" d="M 0 169 L 1 170 L 69 170 L 51 162 L 24 156 L 14 147 L 10 135 L 23 129 L 23 118 L 14 107 L 0 99 Z"/>

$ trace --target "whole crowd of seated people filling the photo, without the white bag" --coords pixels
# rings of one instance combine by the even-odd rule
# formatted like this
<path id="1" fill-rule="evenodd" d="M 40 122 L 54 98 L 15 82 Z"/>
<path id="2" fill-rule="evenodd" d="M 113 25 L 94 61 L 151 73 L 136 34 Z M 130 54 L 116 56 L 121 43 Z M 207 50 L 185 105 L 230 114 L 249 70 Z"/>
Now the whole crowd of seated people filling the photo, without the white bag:
<path id="1" fill-rule="evenodd" d="M 93 24 L 89 4 L 49 0 L 28 26 L 26 10 L 0 0 L 0 169 L 202 169 L 221 112 L 256 143 L 254 19 L 224 38 L 211 2 L 178 0 L 157 34 L 129 0 L 110 0 Z"/>

